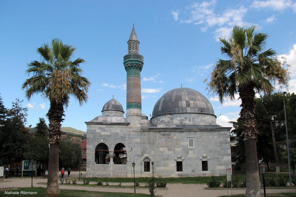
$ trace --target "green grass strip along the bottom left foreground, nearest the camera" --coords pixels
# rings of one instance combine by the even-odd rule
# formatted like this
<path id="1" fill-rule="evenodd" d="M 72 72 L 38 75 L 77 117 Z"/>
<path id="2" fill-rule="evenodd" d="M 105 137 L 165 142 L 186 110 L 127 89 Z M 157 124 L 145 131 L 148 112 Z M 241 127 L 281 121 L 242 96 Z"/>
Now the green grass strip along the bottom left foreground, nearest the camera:
<path id="1" fill-rule="evenodd" d="M 5 191 L 26 191 L 26 192 L 37 192 L 37 194 L 19 194 L 19 195 L 12 195 L 12 194 L 5 194 Z M 1 188 L 0 196 L 35 196 L 35 197 L 43 197 L 46 196 L 46 188 Z M 141 194 L 141 193 L 119 193 L 119 192 L 94 192 L 94 191 L 86 191 L 86 190 L 60 190 L 59 197 L 126 197 L 126 196 L 134 196 L 134 197 L 148 197 L 150 195 Z"/>

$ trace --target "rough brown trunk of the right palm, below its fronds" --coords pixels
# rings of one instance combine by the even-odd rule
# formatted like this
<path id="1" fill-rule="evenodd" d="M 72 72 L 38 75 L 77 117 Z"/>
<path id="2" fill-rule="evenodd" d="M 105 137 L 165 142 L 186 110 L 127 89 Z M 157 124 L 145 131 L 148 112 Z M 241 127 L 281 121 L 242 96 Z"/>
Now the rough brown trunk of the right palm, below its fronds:
<path id="1" fill-rule="evenodd" d="M 239 119 L 244 126 L 244 145 L 246 150 L 246 197 L 260 197 L 260 181 L 257 160 L 257 130 L 256 130 L 256 106 L 255 92 L 249 87 L 239 88 L 239 97 L 242 100 L 242 110 Z"/>

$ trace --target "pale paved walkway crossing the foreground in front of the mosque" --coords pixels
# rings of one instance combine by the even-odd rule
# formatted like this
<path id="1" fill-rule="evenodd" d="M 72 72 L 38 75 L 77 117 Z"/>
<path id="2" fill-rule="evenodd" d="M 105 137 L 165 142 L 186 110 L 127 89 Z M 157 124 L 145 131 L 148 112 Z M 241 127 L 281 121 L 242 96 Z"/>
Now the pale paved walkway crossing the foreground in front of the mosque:
<path id="1" fill-rule="evenodd" d="M 74 176 L 73 178 L 76 177 Z M 79 174 L 79 173 L 78 173 Z M 67 176 L 68 177 L 68 176 Z M 70 176 L 71 177 L 71 176 Z M 0 188 L 21 188 L 21 187 L 31 187 L 31 179 L 20 179 L 20 178 L 9 178 L 11 182 L 1 182 Z M 46 178 L 36 178 L 33 179 L 33 187 L 46 187 L 46 185 L 40 185 L 37 183 L 47 182 Z M 123 184 L 128 185 L 128 184 Z M 182 197 L 216 197 L 227 195 L 226 190 L 206 190 L 207 187 L 205 184 L 168 184 L 167 189 L 156 189 L 157 196 L 163 197 L 173 197 L 173 196 L 182 196 Z M 75 189 L 75 190 L 87 190 L 87 191 L 102 191 L 102 192 L 123 192 L 123 193 L 133 193 L 133 188 L 107 188 L 107 187 L 87 187 L 87 186 L 68 186 L 61 185 L 60 189 Z M 137 193 L 145 193 L 149 194 L 148 189 L 146 188 L 136 188 Z M 263 192 L 263 190 L 262 190 Z M 282 193 L 282 192 L 294 192 L 296 193 L 296 189 L 267 189 L 267 193 Z M 233 194 L 243 194 L 245 190 L 233 190 Z M 229 190 L 229 194 L 231 191 Z"/>

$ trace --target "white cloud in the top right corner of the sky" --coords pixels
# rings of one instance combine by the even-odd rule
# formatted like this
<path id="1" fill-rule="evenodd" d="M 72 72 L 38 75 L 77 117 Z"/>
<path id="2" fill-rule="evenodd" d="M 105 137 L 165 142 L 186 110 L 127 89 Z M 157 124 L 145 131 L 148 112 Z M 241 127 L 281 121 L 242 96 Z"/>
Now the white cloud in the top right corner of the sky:
<path id="1" fill-rule="evenodd" d="M 284 9 L 293 9 L 296 12 L 296 2 L 291 0 L 267 0 L 253 1 L 251 7 L 255 9 L 271 9 L 274 11 L 282 11 Z"/>

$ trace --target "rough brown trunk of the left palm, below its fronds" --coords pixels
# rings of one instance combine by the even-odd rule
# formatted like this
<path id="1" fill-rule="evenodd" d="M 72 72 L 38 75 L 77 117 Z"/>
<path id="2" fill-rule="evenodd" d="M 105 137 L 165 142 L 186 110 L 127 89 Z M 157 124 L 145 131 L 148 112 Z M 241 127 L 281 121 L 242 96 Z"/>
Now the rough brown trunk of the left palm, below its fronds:
<path id="1" fill-rule="evenodd" d="M 62 104 L 50 103 L 47 113 L 49 119 L 49 161 L 46 196 L 59 195 L 59 139 L 61 136 L 61 122 L 64 120 Z"/>

